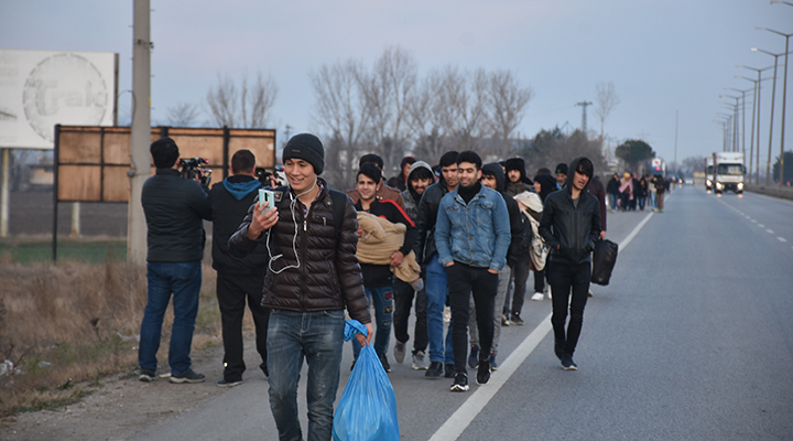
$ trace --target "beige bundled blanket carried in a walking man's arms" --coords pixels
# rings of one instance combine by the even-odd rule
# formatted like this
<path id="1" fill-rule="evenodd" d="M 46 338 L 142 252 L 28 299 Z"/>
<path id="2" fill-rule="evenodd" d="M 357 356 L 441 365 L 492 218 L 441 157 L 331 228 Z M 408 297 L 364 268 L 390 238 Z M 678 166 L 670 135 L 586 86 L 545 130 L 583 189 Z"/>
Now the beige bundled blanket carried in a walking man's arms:
<path id="1" fill-rule="evenodd" d="M 406 227 L 366 212 L 358 212 L 358 225 L 363 230 L 358 238 L 358 260 L 361 263 L 391 265 L 391 255 L 402 248 Z M 416 263 L 413 251 L 404 257 L 402 265 L 391 267 L 391 271 L 415 290 L 424 287 L 420 278 L 421 267 Z"/>

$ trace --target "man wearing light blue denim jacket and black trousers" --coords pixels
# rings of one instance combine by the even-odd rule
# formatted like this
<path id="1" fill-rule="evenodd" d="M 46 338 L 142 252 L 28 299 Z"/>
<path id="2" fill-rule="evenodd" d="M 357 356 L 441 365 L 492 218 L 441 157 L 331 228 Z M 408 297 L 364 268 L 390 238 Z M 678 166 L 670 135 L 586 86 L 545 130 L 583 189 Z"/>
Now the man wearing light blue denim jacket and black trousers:
<path id="1" fill-rule="evenodd" d="M 452 391 L 468 390 L 468 305 L 474 295 L 481 352 L 477 383 L 490 379 L 492 314 L 498 272 L 507 265 L 510 224 L 501 194 L 479 182 L 481 158 L 465 151 L 457 158 L 459 185 L 444 195 L 435 225 L 438 261 L 446 268 L 452 306 L 455 380 Z"/>

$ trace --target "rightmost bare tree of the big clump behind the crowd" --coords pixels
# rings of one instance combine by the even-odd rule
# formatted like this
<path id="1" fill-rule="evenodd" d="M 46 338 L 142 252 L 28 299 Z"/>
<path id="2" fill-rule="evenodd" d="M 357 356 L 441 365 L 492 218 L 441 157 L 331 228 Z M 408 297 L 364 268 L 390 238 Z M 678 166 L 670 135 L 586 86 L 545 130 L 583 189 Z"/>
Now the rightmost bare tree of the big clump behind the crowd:
<path id="1" fill-rule="evenodd" d="M 531 88 L 521 87 L 509 71 L 492 72 L 488 76 L 488 115 L 492 137 L 499 141 L 492 152 L 497 157 L 509 155 L 510 136 L 523 120 L 525 106 L 531 97 Z"/>

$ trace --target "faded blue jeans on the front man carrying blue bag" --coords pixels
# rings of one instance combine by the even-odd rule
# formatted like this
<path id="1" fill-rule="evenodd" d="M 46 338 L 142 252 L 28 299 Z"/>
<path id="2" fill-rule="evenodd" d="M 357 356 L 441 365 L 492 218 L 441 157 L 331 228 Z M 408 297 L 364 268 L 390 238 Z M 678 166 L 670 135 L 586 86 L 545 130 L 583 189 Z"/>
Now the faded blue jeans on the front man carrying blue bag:
<path id="1" fill-rule="evenodd" d="M 344 311 L 272 310 L 268 326 L 270 410 L 279 440 L 302 440 L 297 384 L 303 359 L 308 364 L 306 401 L 308 441 L 328 441 L 344 348 Z"/>

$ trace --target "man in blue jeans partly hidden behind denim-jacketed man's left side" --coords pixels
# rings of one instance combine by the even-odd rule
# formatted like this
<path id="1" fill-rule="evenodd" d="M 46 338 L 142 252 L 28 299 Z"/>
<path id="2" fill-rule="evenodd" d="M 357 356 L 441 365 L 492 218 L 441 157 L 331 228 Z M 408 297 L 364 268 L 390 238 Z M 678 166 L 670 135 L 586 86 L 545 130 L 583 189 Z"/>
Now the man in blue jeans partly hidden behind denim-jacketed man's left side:
<path id="1" fill-rule="evenodd" d="M 443 196 L 457 187 L 457 157 L 459 153 L 450 151 L 441 157 L 441 179 L 430 185 L 422 195 L 416 215 L 416 261 L 426 266 L 426 283 L 424 289 L 427 298 L 427 337 L 430 340 L 430 367 L 424 374 L 427 377 L 454 377 L 454 354 L 452 351 L 452 332 L 447 331 L 444 347 L 443 310 L 446 305 L 448 284 L 446 269 L 437 259 L 435 248 L 435 220 Z M 454 319 L 453 319 L 454 320 Z M 464 348 L 467 353 L 468 349 Z"/>

